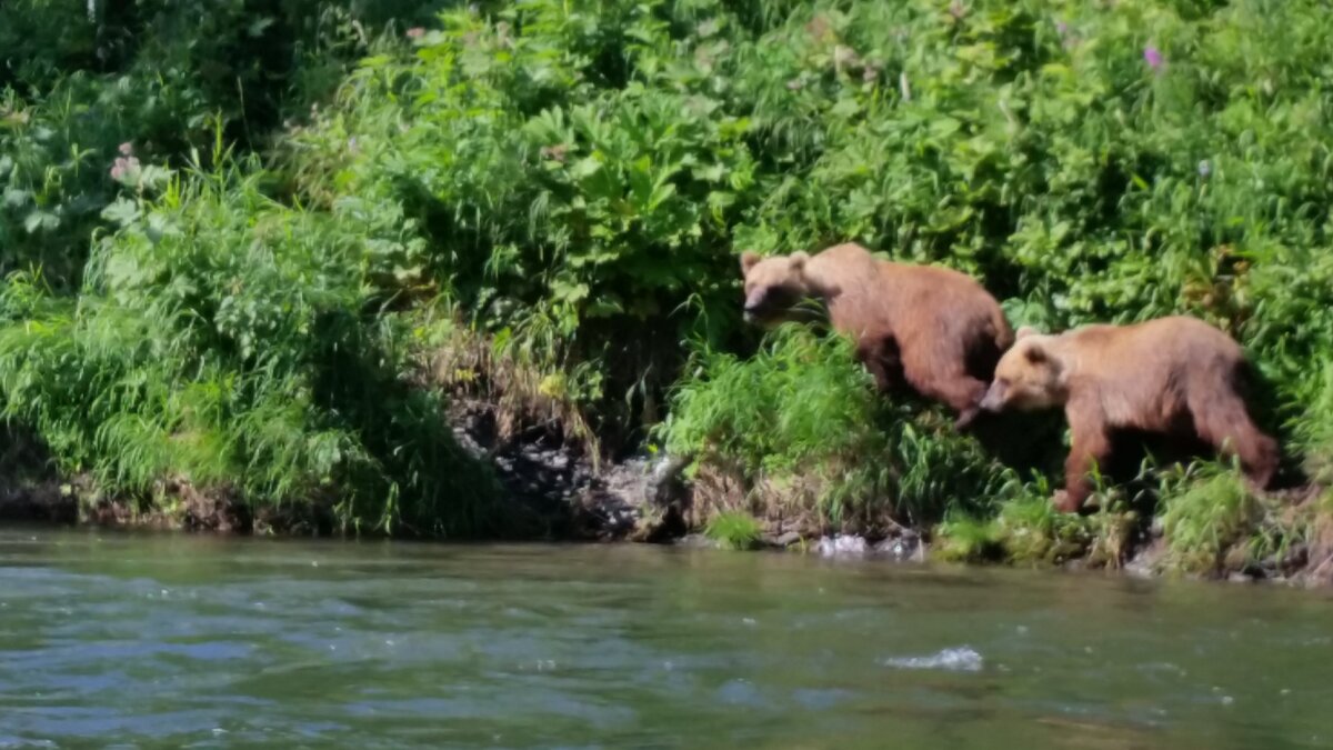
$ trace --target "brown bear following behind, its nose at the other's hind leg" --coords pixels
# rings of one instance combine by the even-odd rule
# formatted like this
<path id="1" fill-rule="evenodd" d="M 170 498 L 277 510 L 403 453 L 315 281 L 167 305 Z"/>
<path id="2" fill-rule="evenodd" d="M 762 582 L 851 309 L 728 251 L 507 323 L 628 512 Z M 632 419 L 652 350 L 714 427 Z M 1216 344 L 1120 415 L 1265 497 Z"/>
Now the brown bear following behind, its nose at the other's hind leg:
<path id="1" fill-rule="evenodd" d="M 1241 398 L 1248 363 L 1240 344 L 1193 318 L 1133 326 L 1085 326 L 1058 335 L 1018 330 L 981 402 L 986 411 L 1062 406 L 1069 422 L 1065 488 L 1056 506 L 1082 507 L 1088 472 L 1112 454 L 1120 431 L 1198 439 L 1240 458 L 1265 490 L 1277 471 L 1277 442 L 1260 431 Z"/>

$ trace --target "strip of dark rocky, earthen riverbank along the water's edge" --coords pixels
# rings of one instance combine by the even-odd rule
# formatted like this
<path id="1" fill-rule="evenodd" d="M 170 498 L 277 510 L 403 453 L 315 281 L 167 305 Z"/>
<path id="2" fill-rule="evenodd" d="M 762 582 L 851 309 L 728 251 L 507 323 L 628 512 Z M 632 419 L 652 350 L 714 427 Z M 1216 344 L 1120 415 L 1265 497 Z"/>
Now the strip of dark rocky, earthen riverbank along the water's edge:
<path id="1" fill-rule="evenodd" d="M 1145 526 L 1133 512 L 1057 516 L 1066 524 L 1064 530 L 1029 523 L 1009 528 L 1009 536 L 992 531 L 982 540 L 968 539 L 974 530 L 960 531 L 948 523 L 910 528 L 886 518 L 869 534 L 842 532 L 813 522 L 809 512 L 784 519 L 718 510 L 716 496 L 700 496 L 709 488 L 685 479 L 681 459 L 636 456 L 595 463 L 577 443 L 563 443 L 559 431 L 525 430 L 500 439 L 497 408 L 493 403 L 461 399 L 451 408 L 460 444 L 492 466 L 504 488 L 505 499 L 497 512 L 507 514 L 511 523 L 505 526 L 508 532 L 493 540 L 685 544 L 886 563 L 948 560 L 1106 570 L 1140 578 L 1188 574 L 1213 581 L 1333 585 L 1333 547 L 1328 535 L 1333 526 L 1325 520 L 1318 526 L 1322 535 L 1286 544 L 1262 558 L 1249 554 L 1253 538 L 1237 536 L 1222 550 L 1217 565 L 1205 566 L 1206 570 L 1182 569 L 1173 559 L 1162 520 Z M 15 479 L 19 472 L 13 462 L 35 458 L 31 447 L 9 452 L 9 471 L 0 474 L 0 520 L 295 538 L 356 535 L 339 527 L 333 492 L 323 500 L 256 511 L 235 492 L 201 491 L 175 480 L 160 483 L 151 498 L 135 502 L 100 492 L 88 475 L 59 478 L 27 472 Z M 1314 512 L 1320 502 L 1310 488 L 1284 492 L 1277 499 L 1293 514 Z M 730 519 L 732 526 L 718 524 L 718 531 L 712 523 L 718 516 Z M 1320 514 L 1320 518 L 1326 516 Z M 736 532 L 736 524 L 745 531 Z M 413 532 L 403 528 L 399 535 L 413 536 Z"/>

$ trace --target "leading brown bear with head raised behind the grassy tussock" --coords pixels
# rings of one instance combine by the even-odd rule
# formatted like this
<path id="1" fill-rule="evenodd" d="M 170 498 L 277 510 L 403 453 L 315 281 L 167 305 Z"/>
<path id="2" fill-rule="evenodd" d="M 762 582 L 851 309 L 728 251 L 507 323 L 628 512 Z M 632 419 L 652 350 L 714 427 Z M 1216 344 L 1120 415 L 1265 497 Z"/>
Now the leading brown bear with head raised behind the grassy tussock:
<path id="1" fill-rule="evenodd" d="M 746 322 L 802 319 L 802 303 L 817 303 L 816 315 L 856 340 L 881 391 L 905 380 L 949 406 L 960 430 L 980 412 L 996 362 L 1013 343 L 1000 304 L 970 276 L 880 260 L 854 243 L 813 256 L 746 251 L 741 271 Z"/>

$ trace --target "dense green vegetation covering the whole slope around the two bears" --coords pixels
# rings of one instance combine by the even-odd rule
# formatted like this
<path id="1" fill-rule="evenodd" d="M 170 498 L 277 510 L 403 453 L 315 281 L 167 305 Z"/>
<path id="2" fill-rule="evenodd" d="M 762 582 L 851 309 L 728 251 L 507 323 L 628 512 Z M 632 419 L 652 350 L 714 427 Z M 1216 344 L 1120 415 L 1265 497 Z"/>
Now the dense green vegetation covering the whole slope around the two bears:
<path id="1" fill-rule="evenodd" d="M 688 452 L 704 522 L 1116 565 L 1161 514 L 1193 571 L 1320 546 L 1225 466 L 1056 515 L 1040 419 L 1000 456 L 841 340 L 761 338 L 737 255 L 860 242 L 1016 326 L 1197 315 L 1328 480 L 1321 3 L 401 5 L 0 8 L 0 400 L 64 472 L 493 532 L 444 419 L 468 384 L 600 455 Z"/>

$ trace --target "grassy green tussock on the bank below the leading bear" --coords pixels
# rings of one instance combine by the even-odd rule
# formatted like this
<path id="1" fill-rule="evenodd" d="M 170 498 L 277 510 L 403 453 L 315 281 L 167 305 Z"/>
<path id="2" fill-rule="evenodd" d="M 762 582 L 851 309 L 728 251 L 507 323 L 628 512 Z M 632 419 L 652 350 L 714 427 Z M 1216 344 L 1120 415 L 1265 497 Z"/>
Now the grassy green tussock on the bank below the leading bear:
<path id="1" fill-rule="evenodd" d="M 694 456 L 705 479 L 738 487 L 718 510 L 882 531 L 938 520 L 950 506 L 989 506 L 1016 486 L 1013 471 L 940 412 L 913 419 L 910 407 L 880 399 L 841 336 L 789 324 L 750 358 L 708 354 L 694 371 L 660 434 L 668 451 Z"/>

